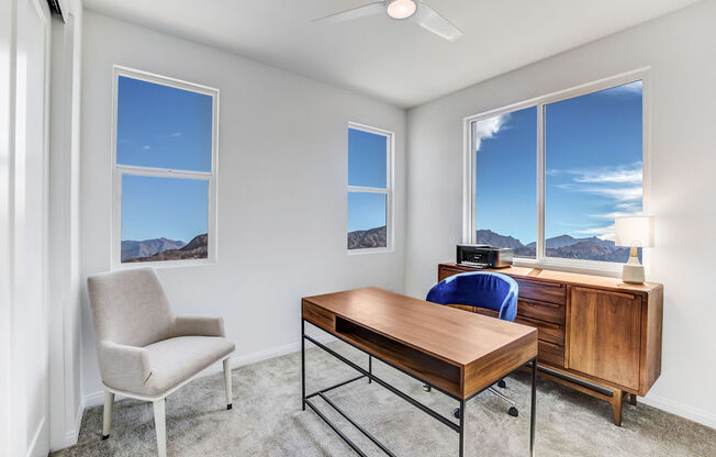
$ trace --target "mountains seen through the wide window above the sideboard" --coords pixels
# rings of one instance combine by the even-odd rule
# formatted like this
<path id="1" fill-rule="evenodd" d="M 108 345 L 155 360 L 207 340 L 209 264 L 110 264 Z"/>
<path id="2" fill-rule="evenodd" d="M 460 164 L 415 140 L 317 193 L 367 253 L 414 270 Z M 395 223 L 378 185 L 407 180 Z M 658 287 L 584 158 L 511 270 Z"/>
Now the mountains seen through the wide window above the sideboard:
<path id="1" fill-rule="evenodd" d="M 491 230 L 477 231 L 477 242 L 513 248 L 515 255 L 521 257 L 534 257 L 536 254 L 535 242 L 524 245 L 513 236 L 501 235 Z M 615 246 L 613 241 L 596 236 L 575 238 L 570 235 L 559 235 L 546 239 L 546 255 L 547 257 L 625 263 L 629 258 L 629 248 Z M 639 257 L 641 257 L 640 250 Z"/>

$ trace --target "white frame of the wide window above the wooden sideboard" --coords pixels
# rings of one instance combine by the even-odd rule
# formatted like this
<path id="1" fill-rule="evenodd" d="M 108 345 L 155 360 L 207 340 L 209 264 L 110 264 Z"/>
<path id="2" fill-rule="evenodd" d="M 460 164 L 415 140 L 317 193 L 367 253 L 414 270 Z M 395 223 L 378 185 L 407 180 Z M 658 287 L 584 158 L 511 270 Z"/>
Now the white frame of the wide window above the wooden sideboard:
<path id="1" fill-rule="evenodd" d="M 476 149 L 472 144 L 472 125 L 476 122 L 484 119 L 490 119 L 500 114 L 505 114 L 525 108 L 536 107 L 537 110 L 537 249 L 536 257 L 522 258 L 515 257 L 513 265 L 524 267 L 538 267 L 547 269 L 556 269 L 563 271 L 600 274 L 604 276 L 618 277 L 622 274 L 622 265 L 616 261 L 601 261 L 601 260 L 582 260 L 582 259 L 563 259 L 557 257 L 547 257 L 545 253 L 545 105 L 558 101 L 584 96 L 600 90 L 609 89 L 617 86 L 623 86 L 638 80 L 642 81 L 642 196 L 641 196 L 641 210 L 645 214 L 649 213 L 649 200 L 651 189 L 651 169 L 650 169 L 650 113 L 649 113 L 649 74 L 650 69 L 640 68 L 634 71 L 624 73 L 614 77 L 600 79 L 597 81 L 588 82 L 570 89 L 561 90 L 558 92 L 549 93 L 547 96 L 537 97 L 535 99 L 526 100 L 523 102 L 510 104 L 507 107 L 490 110 L 480 114 L 467 116 L 463 119 L 463 208 L 462 208 L 462 239 L 465 243 L 476 243 L 477 226 L 476 215 L 478 209 L 476 208 Z M 649 269 L 649 253 L 648 249 L 644 250 L 644 265 Z"/>

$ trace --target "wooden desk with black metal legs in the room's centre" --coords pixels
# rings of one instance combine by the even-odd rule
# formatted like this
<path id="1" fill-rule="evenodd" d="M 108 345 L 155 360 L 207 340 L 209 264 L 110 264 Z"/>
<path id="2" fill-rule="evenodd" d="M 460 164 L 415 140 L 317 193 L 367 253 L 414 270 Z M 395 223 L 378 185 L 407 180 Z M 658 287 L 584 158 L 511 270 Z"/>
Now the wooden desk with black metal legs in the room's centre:
<path id="1" fill-rule="evenodd" d="M 437 306 L 377 288 L 356 289 L 302 299 L 302 366 L 305 367 L 304 342 L 307 339 L 416 408 L 450 426 L 460 435 L 463 453 L 465 402 L 510 372 L 533 366 L 533 402 L 530 453 L 534 449 L 535 383 L 537 330 L 526 325 L 466 314 L 448 306 Z M 335 353 L 304 332 L 309 322 L 369 355 L 366 370 Z M 376 357 L 413 378 L 427 383 L 460 402 L 459 424 L 444 417 L 405 393 L 372 375 L 370 360 Z M 303 409 L 307 404 L 336 431 L 348 445 L 362 453 L 311 402 L 322 397 L 356 425 L 388 455 L 392 455 L 372 435 L 353 422 L 326 399 L 325 392 L 346 382 L 305 394 L 305 368 L 302 375 Z"/>

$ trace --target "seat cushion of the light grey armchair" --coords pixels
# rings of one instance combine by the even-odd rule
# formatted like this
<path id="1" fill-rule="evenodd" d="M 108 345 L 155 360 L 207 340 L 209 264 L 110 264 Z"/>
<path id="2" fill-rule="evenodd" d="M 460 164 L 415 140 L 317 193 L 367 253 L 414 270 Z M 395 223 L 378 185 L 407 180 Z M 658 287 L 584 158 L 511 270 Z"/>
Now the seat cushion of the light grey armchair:
<path id="1" fill-rule="evenodd" d="M 145 346 L 152 374 L 133 393 L 156 397 L 234 352 L 234 343 L 215 336 L 177 336 Z"/>

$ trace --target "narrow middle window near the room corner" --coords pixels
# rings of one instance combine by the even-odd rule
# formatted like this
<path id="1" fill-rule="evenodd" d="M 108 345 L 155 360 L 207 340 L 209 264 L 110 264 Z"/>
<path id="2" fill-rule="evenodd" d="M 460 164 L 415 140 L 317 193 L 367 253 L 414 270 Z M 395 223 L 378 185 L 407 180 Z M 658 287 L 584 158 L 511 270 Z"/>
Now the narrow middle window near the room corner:
<path id="1" fill-rule="evenodd" d="M 393 134 L 348 126 L 348 250 L 391 247 Z"/>

